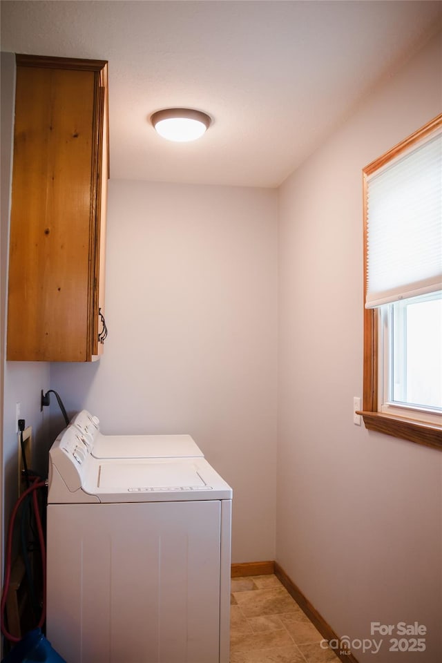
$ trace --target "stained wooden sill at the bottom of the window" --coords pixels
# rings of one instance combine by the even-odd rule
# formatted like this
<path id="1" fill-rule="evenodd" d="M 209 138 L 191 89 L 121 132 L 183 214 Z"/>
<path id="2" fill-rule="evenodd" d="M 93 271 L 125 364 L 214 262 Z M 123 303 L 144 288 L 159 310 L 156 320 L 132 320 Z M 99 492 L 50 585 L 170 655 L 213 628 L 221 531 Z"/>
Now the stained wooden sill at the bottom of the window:
<path id="1" fill-rule="evenodd" d="M 412 421 L 405 417 L 401 418 L 381 412 L 362 410 L 356 414 L 361 414 L 368 430 L 376 430 L 378 433 L 442 450 L 442 426 Z"/>

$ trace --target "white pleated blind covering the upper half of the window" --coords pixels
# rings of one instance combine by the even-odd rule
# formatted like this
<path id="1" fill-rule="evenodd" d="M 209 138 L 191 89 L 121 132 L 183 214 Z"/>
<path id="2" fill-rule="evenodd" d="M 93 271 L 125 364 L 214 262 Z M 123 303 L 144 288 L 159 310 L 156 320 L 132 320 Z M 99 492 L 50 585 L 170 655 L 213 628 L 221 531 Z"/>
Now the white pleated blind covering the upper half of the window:
<path id="1" fill-rule="evenodd" d="M 367 177 L 365 307 L 442 289 L 442 133 Z"/>

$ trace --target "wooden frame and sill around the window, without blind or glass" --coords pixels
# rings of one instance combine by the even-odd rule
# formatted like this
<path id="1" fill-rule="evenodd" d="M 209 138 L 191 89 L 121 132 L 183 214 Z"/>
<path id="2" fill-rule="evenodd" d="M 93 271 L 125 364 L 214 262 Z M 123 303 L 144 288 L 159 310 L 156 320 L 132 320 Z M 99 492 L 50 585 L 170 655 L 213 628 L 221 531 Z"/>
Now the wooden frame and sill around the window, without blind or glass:
<path id="1" fill-rule="evenodd" d="M 363 169 L 364 304 L 367 295 L 367 177 L 440 126 L 442 113 Z M 442 425 L 378 412 L 378 316 L 376 309 L 364 308 L 363 410 L 358 414 L 363 416 L 368 430 L 442 450 Z"/>

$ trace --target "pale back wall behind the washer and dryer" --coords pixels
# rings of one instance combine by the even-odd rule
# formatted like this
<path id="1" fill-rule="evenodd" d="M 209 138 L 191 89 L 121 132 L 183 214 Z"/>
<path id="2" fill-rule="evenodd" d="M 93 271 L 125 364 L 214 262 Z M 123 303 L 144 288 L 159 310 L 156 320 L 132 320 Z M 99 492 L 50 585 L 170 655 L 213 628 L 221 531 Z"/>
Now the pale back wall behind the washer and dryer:
<path id="1" fill-rule="evenodd" d="M 111 181 L 104 356 L 51 365 L 106 433 L 189 432 L 233 487 L 233 561 L 274 559 L 277 191 Z"/>

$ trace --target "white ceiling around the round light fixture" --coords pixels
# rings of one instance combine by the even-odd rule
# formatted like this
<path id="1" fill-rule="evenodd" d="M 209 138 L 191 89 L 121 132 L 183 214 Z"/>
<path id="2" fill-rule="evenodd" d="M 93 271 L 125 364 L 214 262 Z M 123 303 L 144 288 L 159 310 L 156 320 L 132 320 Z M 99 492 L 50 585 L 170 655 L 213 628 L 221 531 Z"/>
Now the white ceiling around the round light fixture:
<path id="1" fill-rule="evenodd" d="M 113 179 L 278 186 L 441 17 L 423 0 L 2 0 L 1 50 L 108 60 Z M 172 144 L 148 123 L 168 106 L 213 124 Z"/>

